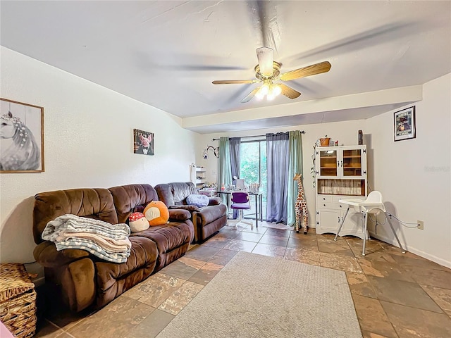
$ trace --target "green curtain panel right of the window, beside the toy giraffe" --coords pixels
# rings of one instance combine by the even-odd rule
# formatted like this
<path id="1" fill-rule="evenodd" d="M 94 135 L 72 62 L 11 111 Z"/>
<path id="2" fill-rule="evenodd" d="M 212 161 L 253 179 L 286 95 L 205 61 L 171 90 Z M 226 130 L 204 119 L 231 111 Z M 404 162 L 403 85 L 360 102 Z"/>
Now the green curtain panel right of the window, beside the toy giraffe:
<path id="1" fill-rule="evenodd" d="M 297 183 L 293 180 L 296 174 L 302 173 L 302 134 L 300 130 L 289 132 L 288 147 L 290 153 L 290 161 L 288 164 L 288 218 L 287 225 L 295 226 L 295 201 L 297 198 Z M 302 175 L 304 178 L 304 175 Z"/>

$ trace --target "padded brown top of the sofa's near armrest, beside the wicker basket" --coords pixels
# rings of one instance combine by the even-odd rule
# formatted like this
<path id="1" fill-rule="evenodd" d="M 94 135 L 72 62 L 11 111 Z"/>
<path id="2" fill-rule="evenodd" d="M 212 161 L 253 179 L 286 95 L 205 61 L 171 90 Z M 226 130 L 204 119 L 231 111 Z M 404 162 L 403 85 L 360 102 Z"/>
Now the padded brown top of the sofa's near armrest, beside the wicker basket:
<path id="1" fill-rule="evenodd" d="M 42 242 L 33 251 L 35 260 L 44 268 L 58 268 L 80 258 L 89 256 L 89 252 L 80 249 L 66 249 L 58 251 L 53 242 Z"/>

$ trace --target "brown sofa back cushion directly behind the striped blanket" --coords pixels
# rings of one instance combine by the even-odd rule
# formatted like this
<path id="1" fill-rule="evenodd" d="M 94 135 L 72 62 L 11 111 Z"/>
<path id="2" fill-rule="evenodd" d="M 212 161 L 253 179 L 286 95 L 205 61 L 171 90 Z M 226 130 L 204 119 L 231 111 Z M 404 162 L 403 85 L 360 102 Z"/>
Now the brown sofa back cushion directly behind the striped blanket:
<path id="1" fill-rule="evenodd" d="M 81 217 L 118 223 L 113 196 L 108 189 L 68 189 L 41 192 L 35 195 L 33 208 L 33 237 L 35 243 L 44 242 L 42 231 L 49 221 L 71 213 Z"/>

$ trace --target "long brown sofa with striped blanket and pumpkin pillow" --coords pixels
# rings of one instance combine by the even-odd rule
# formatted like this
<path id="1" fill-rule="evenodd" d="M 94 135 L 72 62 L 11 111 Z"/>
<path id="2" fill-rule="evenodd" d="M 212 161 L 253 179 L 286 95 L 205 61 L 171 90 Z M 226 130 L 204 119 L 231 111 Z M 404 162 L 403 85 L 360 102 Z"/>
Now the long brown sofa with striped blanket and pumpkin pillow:
<path id="1" fill-rule="evenodd" d="M 61 287 L 70 310 L 99 308 L 183 256 L 194 239 L 189 211 L 171 209 L 169 223 L 130 234 L 132 249 L 125 263 L 109 263 L 80 249 L 57 251 L 53 242 L 41 238 L 50 220 L 67 213 L 125 223 L 130 213 L 157 200 L 149 184 L 130 184 L 109 189 L 68 189 L 35 196 L 34 256 L 44 266 L 47 282 Z"/>

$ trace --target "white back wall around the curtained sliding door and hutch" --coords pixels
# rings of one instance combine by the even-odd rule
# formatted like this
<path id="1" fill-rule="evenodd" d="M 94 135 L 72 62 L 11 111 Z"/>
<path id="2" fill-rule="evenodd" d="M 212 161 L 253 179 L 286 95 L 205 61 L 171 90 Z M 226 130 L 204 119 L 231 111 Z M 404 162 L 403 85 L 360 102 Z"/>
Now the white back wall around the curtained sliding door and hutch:
<path id="1" fill-rule="evenodd" d="M 278 108 L 277 106 L 274 109 Z M 200 135 L 200 144 L 196 151 L 197 165 L 204 165 L 207 168 L 207 181 L 216 182 L 216 175 L 213 175 L 213 171 L 217 172 L 218 161 L 217 158 L 209 152 L 209 158 L 204 160 L 202 158 L 202 152 L 206 149 L 206 145 L 218 146 L 219 141 L 212 141 L 214 138 L 219 138 L 221 136 L 228 137 L 242 137 L 242 136 L 252 136 L 252 135 L 264 135 L 266 132 L 288 132 L 290 130 L 304 130 L 305 134 L 302 135 L 302 155 L 304 161 L 303 171 L 304 171 L 304 193 L 307 200 L 307 210 L 309 212 L 309 227 L 315 227 L 315 190 L 313 187 L 313 177 L 310 173 L 312 159 L 311 155 L 314 151 L 314 144 L 319 137 L 324 137 L 328 135 L 334 141 L 338 140 L 340 145 L 352 145 L 358 143 L 358 132 L 359 130 L 364 130 L 365 120 L 354 120 L 347 122 L 336 122 L 336 123 L 321 123 L 316 125 L 297 125 L 295 127 L 280 127 L 271 128 L 264 130 L 251 130 L 246 132 L 227 132 L 221 134 L 203 134 Z"/>

